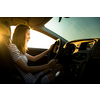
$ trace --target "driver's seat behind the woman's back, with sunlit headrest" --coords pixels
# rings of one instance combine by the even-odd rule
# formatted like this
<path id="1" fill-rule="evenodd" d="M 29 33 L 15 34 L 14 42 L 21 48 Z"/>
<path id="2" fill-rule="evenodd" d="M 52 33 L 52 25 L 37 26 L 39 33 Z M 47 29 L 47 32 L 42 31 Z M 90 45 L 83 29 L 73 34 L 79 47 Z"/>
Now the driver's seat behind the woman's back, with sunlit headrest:
<path id="1" fill-rule="evenodd" d="M 3 36 L 3 37 L 2 37 Z M 8 22 L 0 22 L 0 83 L 16 84 L 25 83 L 20 72 L 15 67 L 12 57 L 7 48 L 7 41 L 11 36 L 10 25 Z M 5 39 L 7 41 L 5 41 Z"/>

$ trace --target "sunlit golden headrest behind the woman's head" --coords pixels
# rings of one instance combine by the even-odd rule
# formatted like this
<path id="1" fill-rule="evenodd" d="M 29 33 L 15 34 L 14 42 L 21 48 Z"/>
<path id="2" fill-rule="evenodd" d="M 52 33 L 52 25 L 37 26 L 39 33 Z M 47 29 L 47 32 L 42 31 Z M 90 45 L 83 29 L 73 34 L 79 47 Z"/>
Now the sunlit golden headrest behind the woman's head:
<path id="1" fill-rule="evenodd" d="M 11 36 L 10 25 L 7 21 L 5 21 L 4 23 L 0 23 L 0 34 Z"/>

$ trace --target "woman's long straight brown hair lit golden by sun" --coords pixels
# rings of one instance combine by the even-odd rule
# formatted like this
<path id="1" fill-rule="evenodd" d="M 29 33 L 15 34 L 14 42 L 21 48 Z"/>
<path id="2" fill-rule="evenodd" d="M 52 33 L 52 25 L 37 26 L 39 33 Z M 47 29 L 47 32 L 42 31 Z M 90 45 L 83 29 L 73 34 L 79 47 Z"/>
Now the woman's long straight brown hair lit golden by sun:
<path id="1" fill-rule="evenodd" d="M 26 31 L 30 29 L 26 25 L 18 25 L 13 33 L 12 43 L 16 44 L 17 48 L 22 54 L 25 54 L 27 51 L 26 44 Z"/>

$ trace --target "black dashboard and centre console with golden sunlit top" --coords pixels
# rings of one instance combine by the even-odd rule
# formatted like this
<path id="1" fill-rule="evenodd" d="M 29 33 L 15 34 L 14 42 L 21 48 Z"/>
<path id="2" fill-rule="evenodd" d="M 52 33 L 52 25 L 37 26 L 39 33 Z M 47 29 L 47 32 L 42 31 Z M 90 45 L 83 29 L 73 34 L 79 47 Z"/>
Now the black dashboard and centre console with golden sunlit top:
<path id="1" fill-rule="evenodd" d="M 94 61 L 95 59 L 99 60 L 100 58 L 99 46 L 100 46 L 99 39 L 71 41 L 67 42 L 63 46 L 63 56 L 62 56 L 63 60 L 61 62 L 64 65 L 67 73 L 67 79 L 66 79 L 67 83 L 94 82 L 90 78 L 92 77 L 92 75 L 90 74 L 97 73 L 97 71 L 95 71 L 97 69 L 96 67 L 94 67 L 96 66 L 96 64 L 94 64 Z M 88 78 L 91 79 L 92 81 L 89 80 Z"/>

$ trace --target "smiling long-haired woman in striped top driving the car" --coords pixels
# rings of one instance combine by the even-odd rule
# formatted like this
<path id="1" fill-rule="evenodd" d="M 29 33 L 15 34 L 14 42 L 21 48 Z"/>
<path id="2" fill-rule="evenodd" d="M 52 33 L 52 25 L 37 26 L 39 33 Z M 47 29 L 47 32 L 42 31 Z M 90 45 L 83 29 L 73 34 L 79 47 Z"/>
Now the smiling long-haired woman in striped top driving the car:
<path id="1" fill-rule="evenodd" d="M 39 66 L 28 66 L 28 60 L 36 62 L 44 55 L 52 50 L 53 45 L 39 55 L 31 56 L 27 54 L 27 42 L 30 39 L 30 28 L 26 25 L 18 25 L 13 33 L 12 43 L 9 44 L 8 49 L 13 58 L 13 61 L 17 65 L 17 69 L 20 71 L 26 83 L 32 84 L 37 81 L 40 75 L 46 72 L 48 69 L 52 71 L 45 75 L 41 79 L 41 83 L 52 83 L 55 80 L 55 74 L 58 70 L 63 70 L 61 64 L 57 64 L 58 60 L 51 60 L 49 63 Z"/>

